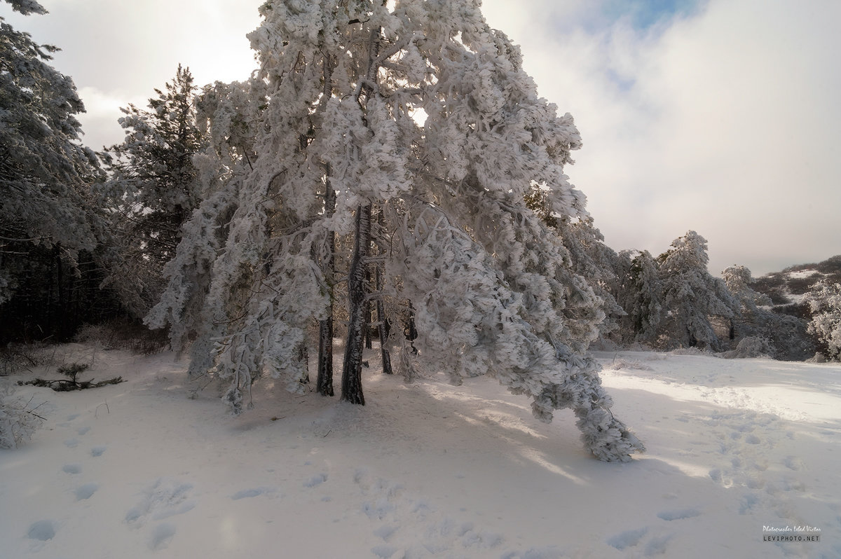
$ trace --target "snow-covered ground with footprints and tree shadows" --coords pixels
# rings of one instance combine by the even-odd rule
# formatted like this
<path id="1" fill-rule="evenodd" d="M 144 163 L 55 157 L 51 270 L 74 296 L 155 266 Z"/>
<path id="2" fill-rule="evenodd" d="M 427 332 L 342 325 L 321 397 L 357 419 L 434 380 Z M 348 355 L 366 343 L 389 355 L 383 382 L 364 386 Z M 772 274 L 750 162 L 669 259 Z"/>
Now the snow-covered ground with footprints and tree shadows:
<path id="1" fill-rule="evenodd" d="M 490 378 L 406 384 L 376 352 L 364 407 L 278 389 L 234 418 L 171 354 L 61 346 L 127 382 L 18 389 L 48 421 L 0 451 L 0 556 L 841 556 L 838 364 L 597 356 L 648 446 L 627 464 L 590 458 L 569 411 L 541 424 Z"/>

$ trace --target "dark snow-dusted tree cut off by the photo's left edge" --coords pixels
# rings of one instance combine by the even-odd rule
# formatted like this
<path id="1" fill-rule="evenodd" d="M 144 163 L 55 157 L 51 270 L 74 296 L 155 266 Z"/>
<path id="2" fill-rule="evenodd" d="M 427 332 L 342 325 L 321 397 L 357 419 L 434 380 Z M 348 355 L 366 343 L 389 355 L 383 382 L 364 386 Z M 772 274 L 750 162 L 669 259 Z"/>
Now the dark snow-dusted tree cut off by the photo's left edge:
<path id="1" fill-rule="evenodd" d="M 34 0 L 9 3 L 46 13 Z M 77 320 L 71 279 L 103 236 L 89 187 L 98 161 L 81 144 L 76 87 L 50 66 L 56 50 L 0 18 L 0 314 L 4 326 L 34 322 L 41 335 L 66 335 Z M 16 297 L 27 300 L 16 307 Z"/>

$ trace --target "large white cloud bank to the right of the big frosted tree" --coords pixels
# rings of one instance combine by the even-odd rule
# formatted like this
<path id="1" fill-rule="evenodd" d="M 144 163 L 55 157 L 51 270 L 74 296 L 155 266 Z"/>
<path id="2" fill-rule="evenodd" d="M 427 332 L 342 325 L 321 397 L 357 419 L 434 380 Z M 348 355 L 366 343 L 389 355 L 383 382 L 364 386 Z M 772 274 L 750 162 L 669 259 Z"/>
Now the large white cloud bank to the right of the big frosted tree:
<path id="1" fill-rule="evenodd" d="M 574 115 L 584 149 L 567 173 L 608 245 L 657 254 L 696 229 L 711 272 L 755 275 L 841 252 L 841 4 L 684 3 L 643 26 L 611 2 L 578 23 L 571 3 L 563 24 L 484 5 Z"/>

